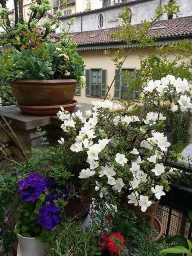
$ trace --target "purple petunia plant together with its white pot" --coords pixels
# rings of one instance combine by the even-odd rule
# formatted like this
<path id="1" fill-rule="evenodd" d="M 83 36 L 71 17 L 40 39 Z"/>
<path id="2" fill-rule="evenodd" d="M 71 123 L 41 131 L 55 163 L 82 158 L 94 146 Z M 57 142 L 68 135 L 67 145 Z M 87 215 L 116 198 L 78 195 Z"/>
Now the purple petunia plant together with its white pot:
<path id="1" fill-rule="evenodd" d="M 18 222 L 14 229 L 18 252 L 27 256 L 46 255 L 43 242 L 61 220 L 62 207 L 59 204 L 68 196 L 68 189 L 65 186 L 58 189 L 53 180 L 32 173 L 18 182 L 18 190 Z"/>

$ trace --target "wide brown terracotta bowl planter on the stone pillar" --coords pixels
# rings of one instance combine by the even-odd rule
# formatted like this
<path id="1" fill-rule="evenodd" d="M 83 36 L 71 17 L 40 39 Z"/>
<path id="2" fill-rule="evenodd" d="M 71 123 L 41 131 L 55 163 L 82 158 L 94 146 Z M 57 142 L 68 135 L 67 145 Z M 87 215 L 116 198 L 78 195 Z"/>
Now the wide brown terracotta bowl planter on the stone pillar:
<path id="1" fill-rule="evenodd" d="M 32 80 L 11 81 L 13 96 L 19 105 L 54 106 L 70 104 L 75 95 L 77 80 Z"/>

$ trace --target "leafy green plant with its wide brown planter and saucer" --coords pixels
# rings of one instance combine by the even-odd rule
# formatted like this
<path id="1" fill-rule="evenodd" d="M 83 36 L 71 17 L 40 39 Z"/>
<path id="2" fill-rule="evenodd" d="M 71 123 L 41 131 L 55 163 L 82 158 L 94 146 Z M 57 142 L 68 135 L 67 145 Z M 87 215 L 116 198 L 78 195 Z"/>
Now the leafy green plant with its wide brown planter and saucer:
<path id="1" fill-rule="evenodd" d="M 15 50 L 9 58 L 7 76 L 23 112 L 56 114 L 60 106 L 75 103 L 72 100 L 77 82 L 84 83 L 84 63 L 74 44 L 42 43 Z"/>

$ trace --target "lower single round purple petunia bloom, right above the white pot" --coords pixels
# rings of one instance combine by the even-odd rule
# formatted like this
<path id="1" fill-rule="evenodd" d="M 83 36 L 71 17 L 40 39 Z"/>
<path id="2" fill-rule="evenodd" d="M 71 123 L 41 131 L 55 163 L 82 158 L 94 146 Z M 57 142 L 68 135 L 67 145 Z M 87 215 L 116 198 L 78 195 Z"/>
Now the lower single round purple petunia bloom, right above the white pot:
<path id="1" fill-rule="evenodd" d="M 62 211 L 56 207 L 55 203 L 47 204 L 40 207 L 37 222 L 46 229 L 55 228 L 60 222 L 61 213 Z"/>

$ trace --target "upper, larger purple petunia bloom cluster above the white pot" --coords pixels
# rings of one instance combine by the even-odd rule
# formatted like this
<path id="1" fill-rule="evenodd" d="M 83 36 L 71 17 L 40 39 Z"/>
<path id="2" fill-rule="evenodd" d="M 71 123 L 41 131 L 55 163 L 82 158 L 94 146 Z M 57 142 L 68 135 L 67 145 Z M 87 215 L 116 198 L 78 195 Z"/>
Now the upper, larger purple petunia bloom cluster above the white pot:
<path id="1" fill-rule="evenodd" d="M 21 202 L 35 202 L 41 193 L 49 189 L 50 180 L 40 177 L 38 173 L 33 173 L 24 180 L 19 181 L 18 185 L 21 193 Z"/>

